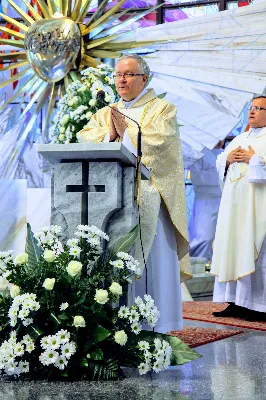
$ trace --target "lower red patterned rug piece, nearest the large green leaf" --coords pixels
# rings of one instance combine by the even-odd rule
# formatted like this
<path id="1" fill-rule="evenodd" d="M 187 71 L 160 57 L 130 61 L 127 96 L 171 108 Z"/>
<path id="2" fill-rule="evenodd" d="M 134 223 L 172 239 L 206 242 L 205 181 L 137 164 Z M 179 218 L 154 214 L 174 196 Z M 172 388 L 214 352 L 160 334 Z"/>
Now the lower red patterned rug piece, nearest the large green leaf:
<path id="1" fill-rule="evenodd" d="M 176 336 L 186 343 L 189 347 L 197 347 L 203 344 L 216 342 L 217 340 L 226 339 L 230 336 L 243 333 L 240 330 L 226 330 L 213 328 L 194 328 L 185 326 L 182 331 L 172 331 L 169 335 Z"/>

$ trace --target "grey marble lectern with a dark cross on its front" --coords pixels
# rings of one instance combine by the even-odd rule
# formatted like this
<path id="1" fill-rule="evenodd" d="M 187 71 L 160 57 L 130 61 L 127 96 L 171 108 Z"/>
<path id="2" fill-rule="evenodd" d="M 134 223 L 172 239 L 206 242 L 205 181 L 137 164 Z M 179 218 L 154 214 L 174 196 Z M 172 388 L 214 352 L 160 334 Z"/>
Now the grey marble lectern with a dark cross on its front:
<path id="1" fill-rule="evenodd" d="M 136 224 L 136 157 L 122 143 L 44 144 L 38 151 L 54 164 L 51 223 L 62 227 L 63 241 L 82 224 L 102 229 L 111 244 Z M 149 178 L 142 165 L 142 179 Z"/>

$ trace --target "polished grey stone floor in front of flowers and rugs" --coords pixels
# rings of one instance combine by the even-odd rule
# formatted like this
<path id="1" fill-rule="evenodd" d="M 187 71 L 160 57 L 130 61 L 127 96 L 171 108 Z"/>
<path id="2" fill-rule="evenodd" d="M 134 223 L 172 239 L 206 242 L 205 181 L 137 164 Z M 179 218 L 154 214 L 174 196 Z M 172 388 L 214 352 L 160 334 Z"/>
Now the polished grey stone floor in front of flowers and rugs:
<path id="1" fill-rule="evenodd" d="M 265 332 L 246 330 L 197 350 L 202 358 L 152 379 L 130 373 L 122 382 L 2 382 L 0 400 L 266 400 Z"/>

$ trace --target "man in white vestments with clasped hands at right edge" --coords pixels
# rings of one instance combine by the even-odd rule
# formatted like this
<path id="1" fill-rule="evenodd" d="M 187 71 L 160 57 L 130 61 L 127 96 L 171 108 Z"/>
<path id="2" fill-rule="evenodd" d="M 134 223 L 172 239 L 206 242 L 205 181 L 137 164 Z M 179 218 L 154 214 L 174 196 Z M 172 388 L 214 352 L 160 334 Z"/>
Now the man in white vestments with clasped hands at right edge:
<path id="1" fill-rule="evenodd" d="M 266 96 L 253 99 L 250 130 L 217 159 L 224 182 L 211 273 L 214 302 L 229 306 L 217 317 L 266 316 Z"/>

